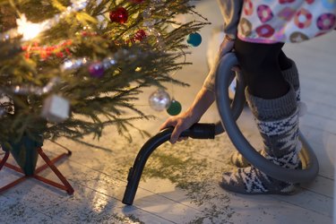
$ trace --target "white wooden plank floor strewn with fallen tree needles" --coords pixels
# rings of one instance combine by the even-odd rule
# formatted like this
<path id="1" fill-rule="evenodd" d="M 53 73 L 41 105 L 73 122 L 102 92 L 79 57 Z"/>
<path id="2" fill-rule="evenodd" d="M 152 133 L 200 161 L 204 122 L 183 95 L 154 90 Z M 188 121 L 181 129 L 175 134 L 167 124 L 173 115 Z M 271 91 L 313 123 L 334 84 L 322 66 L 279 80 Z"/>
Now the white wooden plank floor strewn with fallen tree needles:
<path id="1" fill-rule="evenodd" d="M 220 25 L 216 1 L 197 4 L 211 26 L 202 30 L 203 42 L 195 47 L 185 67 L 177 76 L 191 88 L 168 86 L 170 94 L 187 108 L 202 86 L 207 73 L 204 52 L 211 30 Z M 334 149 L 336 148 L 336 32 L 299 45 L 287 45 L 285 52 L 297 62 L 302 99 L 308 111 L 300 119 L 300 128 L 312 144 L 320 161 L 320 173 L 314 183 L 302 185 L 299 194 L 240 195 L 230 194 L 218 186 L 220 174 L 233 167 L 228 154 L 235 149 L 225 134 L 215 140 L 189 140 L 172 146 L 165 144 L 149 159 L 136 194 L 134 205 L 121 200 L 128 168 L 146 141 L 132 130 L 134 142 L 127 142 L 110 127 L 99 142 L 108 151 L 91 149 L 66 140 L 58 142 L 73 155 L 57 163 L 57 168 L 75 189 L 73 196 L 29 179 L 0 194 L 0 223 L 332 223 Z M 152 90 L 146 90 L 139 105 L 146 105 Z M 138 121 L 151 134 L 167 119 L 148 106 L 142 110 L 158 116 L 156 120 Z M 202 122 L 216 122 L 212 107 Z M 246 109 L 239 125 L 254 146 L 260 147 L 252 116 Z M 45 142 L 50 156 L 62 149 Z M 49 171 L 43 176 L 56 179 Z M 13 171 L 0 171 L 0 185 L 17 177 Z"/>

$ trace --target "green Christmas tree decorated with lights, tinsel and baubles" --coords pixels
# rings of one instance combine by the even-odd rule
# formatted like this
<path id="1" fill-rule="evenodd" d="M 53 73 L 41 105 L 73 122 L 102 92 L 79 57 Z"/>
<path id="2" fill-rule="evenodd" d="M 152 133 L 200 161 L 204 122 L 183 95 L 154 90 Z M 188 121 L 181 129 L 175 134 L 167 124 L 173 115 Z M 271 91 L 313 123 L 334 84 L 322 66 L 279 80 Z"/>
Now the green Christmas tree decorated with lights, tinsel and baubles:
<path id="1" fill-rule="evenodd" d="M 107 125 L 126 134 L 149 117 L 134 106 L 143 88 L 185 84 L 169 74 L 205 23 L 187 0 L 0 1 L 1 145 L 99 137 Z"/>

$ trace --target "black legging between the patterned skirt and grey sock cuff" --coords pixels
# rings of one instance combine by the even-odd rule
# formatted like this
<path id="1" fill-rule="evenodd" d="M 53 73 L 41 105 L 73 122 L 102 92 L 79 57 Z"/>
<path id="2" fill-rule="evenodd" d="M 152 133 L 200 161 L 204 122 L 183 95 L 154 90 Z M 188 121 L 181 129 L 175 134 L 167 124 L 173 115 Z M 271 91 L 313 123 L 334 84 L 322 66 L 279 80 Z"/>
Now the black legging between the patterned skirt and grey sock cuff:
<path id="1" fill-rule="evenodd" d="M 235 42 L 235 51 L 249 92 L 255 97 L 276 99 L 289 91 L 281 70 L 291 66 L 283 53 L 283 43 L 258 44 L 240 39 Z"/>

